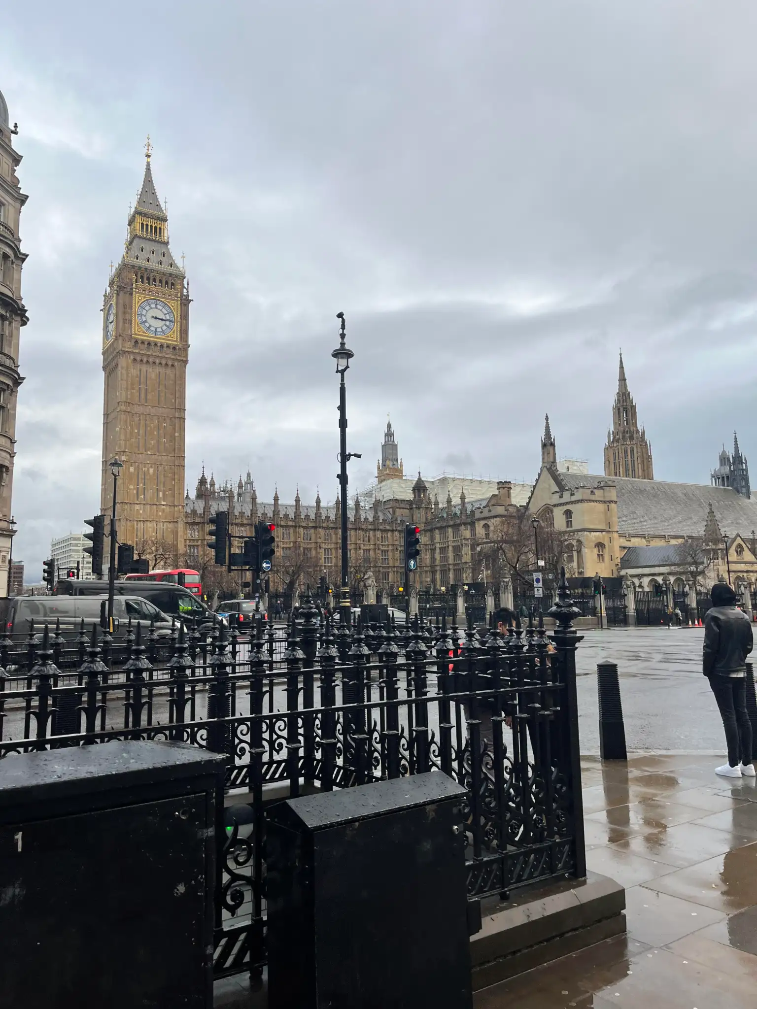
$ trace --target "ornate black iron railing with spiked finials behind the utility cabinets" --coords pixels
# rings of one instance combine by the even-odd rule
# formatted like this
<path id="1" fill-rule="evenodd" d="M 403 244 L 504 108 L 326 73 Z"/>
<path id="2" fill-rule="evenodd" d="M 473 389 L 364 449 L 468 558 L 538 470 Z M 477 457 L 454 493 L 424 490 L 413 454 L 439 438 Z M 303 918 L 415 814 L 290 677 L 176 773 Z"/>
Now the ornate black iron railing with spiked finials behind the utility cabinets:
<path id="1" fill-rule="evenodd" d="M 215 969 L 265 960 L 265 806 L 314 790 L 442 771 L 467 790 L 470 900 L 585 875 L 575 690 L 578 614 L 564 578 L 548 637 L 434 624 L 320 624 L 168 643 L 129 629 L 0 639 L 0 757 L 166 740 L 228 757 Z M 285 634 L 286 631 L 286 634 Z M 158 661 L 159 660 L 159 661 Z"/>

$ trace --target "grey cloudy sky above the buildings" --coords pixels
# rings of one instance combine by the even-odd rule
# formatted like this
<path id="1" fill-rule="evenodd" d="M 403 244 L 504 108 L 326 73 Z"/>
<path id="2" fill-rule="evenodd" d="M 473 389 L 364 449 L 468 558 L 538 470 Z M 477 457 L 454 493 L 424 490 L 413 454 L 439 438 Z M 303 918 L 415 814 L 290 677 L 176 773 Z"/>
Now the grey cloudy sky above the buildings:
<path id="1" fill-rule="evenodd" d="M 757 6 L 244 0 L 2 15 L 29 200 L 14 555 L 99 508 L 101 314 L 143 143 L 194 299 L 187 483 L 532 479 L 545 411 L 601 471 L 623 348 L 661 479 L 753 422 Z M 757 474 L 755 474 L 757 475 Z M 37 569 L 39 569 L 37 571 Z"/>

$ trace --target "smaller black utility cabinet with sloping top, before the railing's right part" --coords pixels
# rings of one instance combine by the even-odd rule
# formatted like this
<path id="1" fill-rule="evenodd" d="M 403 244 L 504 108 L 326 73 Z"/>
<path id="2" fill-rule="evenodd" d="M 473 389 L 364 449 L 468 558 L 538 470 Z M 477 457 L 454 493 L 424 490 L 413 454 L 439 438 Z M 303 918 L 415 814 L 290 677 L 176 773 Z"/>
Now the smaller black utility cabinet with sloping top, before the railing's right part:
<path id="1" fill-rule="evenodd" d="M 470 1009 L 464 796 L 432 773 L 271 809 L 269 1009 Z"/>

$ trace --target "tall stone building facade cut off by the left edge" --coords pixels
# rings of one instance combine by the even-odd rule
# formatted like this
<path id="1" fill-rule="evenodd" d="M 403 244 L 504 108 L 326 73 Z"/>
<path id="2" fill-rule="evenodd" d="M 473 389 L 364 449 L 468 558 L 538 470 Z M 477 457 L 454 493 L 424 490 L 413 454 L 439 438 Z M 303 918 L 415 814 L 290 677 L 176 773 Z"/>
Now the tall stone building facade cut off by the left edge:
<path id="1" fill-rule="evenodd" d="M 21 269 L 26 253 L 21 251 L 19 222 L 26 196 L 21 192 L 16 169 L 21 155 L 13 149 L 8 106 L 0 93 L 0 595 L 8 594 L 8 564 L 12 554 L 11 521 L 13 459 L 16 454 L 16 399 L 23 378 L 18 372 L 21 327 L 26 309 L 21 301 Z"/>

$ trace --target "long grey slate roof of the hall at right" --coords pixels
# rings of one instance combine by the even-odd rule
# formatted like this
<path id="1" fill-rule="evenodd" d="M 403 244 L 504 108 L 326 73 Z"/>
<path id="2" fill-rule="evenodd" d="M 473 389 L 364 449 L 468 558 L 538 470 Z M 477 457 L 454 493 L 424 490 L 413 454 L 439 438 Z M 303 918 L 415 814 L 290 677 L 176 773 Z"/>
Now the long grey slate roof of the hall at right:
<path id="1" fill-rule="evenodd" d="M 757 500 L 733 487 L 707 483 L 667 483 L 625 476 L 553 473 L 564 490 L 597 488 L 612 483 L 618 489 L 618 531 L 637 536 L 701 536 L 713 506 L 724 533 L 750 536 L 757 529 Z"/>

